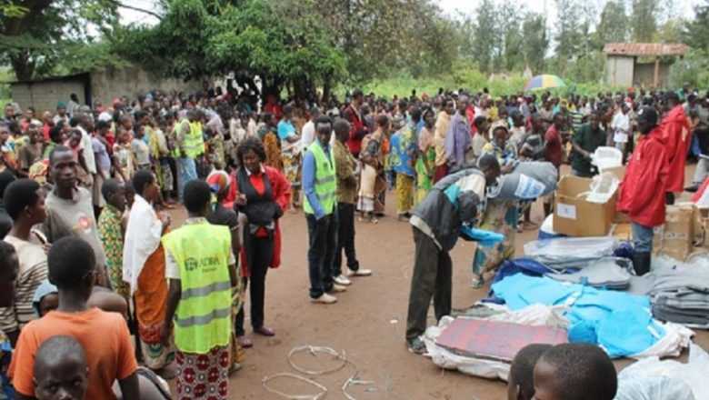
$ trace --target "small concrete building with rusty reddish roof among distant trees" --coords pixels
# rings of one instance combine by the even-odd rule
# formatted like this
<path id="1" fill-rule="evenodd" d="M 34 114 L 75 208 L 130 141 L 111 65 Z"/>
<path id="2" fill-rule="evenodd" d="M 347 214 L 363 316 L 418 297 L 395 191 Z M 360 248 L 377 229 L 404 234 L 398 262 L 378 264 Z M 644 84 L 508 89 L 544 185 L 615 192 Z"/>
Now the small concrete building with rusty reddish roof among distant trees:
<path id="1" fill-rule="evenodd" d="M 609 43 L 604 46 L 605 83 L 613 86 L 665 87 L 674 57 L 687 45 L 660 43 Z"/>

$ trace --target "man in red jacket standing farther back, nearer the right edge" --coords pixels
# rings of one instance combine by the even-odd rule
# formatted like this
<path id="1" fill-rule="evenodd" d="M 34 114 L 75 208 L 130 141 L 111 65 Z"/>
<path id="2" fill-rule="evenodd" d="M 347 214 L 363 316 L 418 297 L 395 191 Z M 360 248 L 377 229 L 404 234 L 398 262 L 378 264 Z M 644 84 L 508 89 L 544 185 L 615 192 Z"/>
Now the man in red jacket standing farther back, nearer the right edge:
<path id="1" fill-rule="evenodd" d="M 670 164 L 670 175 L 667 180 L 667 204 L 674 204 L 674 194 L 684 190 L 684 164 L 687 151 L 692 143 L 689 120 L 684 114 L 679 95 L 667 92 L 664 95 L 664 112 L 666 113 L 660 128 L 663 130 L 664 142 L 667 145 L 667 160 Z"/>

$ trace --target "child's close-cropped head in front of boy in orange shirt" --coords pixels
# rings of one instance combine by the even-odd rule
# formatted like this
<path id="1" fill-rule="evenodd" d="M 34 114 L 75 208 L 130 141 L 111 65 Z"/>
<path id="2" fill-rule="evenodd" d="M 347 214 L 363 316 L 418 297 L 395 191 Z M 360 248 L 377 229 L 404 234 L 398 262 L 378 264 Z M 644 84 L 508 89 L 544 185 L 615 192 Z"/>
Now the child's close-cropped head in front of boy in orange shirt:
<path id="1" fill-rule="evenodd" d="M 52 336 L 35 355 L 37 400 L 84 400 L 88 389 L 88 365 L 84 347 L 72 336 Z"/>

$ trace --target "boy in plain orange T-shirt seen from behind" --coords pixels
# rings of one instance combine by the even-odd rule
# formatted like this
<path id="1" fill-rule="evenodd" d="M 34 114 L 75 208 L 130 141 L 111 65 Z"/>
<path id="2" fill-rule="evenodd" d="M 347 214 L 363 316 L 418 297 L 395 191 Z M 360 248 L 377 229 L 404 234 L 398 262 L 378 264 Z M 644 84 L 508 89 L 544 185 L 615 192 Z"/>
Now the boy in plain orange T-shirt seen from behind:
<path id="1" fill-rule="evenodd" d="M 48 255 L 49 280 L 59 290 L 59 307 L 22 330 L 15 347 L 10 376 L 16 398 L 35 398 L 34 366 L 37 349 L 55 335 L 72 336 L 86 351 L 89 399 L 115 399 L 117 379 L 124 398 L 139 398 L 137 363 L 123 317 L 88 308 L 95 283 L 95 255 L 91 246 L 73 236 L 59 239 Z"/>

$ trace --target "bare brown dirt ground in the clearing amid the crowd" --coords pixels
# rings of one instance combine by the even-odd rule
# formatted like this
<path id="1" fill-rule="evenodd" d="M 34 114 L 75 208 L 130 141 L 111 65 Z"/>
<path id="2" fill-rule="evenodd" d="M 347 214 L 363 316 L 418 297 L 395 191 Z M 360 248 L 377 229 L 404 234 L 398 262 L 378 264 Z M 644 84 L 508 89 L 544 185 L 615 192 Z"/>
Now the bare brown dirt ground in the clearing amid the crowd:
<path id="1" fill-rule="evenodd" d="M 255 345 L 246 352 L 244 368 L 231 379 L 232 399 L 271 400 L 282 398 L 268 393 L 262 385 L 265 376 L 295 373 L 287 355 L 295 346 L 320 345 L 344 351 L 356 367 L 347 366 L 336 373 L 313 378 L 328 389 L 328 399 L 345 399 L 345 381 L 359 373 L 359 379 L 374 385 L 354 385 L 349 393 L 357 400 L 382 399 L 478 399 L 505 398 L 506 386 L 491 381 L 444 371 L 429 359 L 412 355 L 404 345 L 404 329 L 411 273 L 414 265 L 414 242 L 411 226 L 397 222 L 394 215 L 395 196 L 387 198 L 387 217 L 378 225 L 356 224 L 356 250 L 363 268 L 374 275 L 357 278 L 341 295 L 336 305 L 313 305 L 308 297 L 307 227 L 302 213 L 286 213 L 282 219 L 284 233 L 283 265 L 270 270 L 266 279 L 265 324 L 275 329 L 274 338 L 254 336 Z M 541 204 L 535 204 L 533 219 L 541 222 Z M 178 226 L 184 213 L 175 212 Z M 537 233 L 516 236 L 517 255 L 524 243 Z M 488 287 L 471 288 L 471 260 L 474 245 L 459 241 L 451 256 L 454 265 L 454 308 L 473 305 L 485 295 Z M 248 308 L 247 308 L 248 309 Z M 248 318 L 248 312 L 246 313 Z M 434 323 L 433 307 L 429 313 Z M 251 335 L 246 321 L 247 335 Z M 700 332 L 695 340 L 709 348 L 709 334 Z M 684 357 L 683 357 L 684 358 Z M 314 358 L 307 353 L 293 357 L 297 365 L 322 370 L 336 362 L 325 356 Z M 325 361 L 323 361 L 325 360 Z M 321 363 L 322 361 L 322 363 Z M 620 361 L 618 368 L 628 365 Z M 315 394 L 315 387 L 279 378 L 272 387 L 290 395 Z"/>

